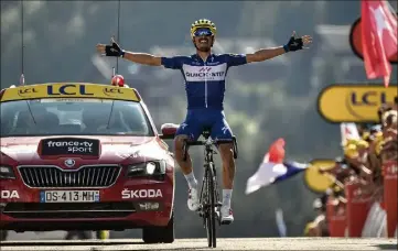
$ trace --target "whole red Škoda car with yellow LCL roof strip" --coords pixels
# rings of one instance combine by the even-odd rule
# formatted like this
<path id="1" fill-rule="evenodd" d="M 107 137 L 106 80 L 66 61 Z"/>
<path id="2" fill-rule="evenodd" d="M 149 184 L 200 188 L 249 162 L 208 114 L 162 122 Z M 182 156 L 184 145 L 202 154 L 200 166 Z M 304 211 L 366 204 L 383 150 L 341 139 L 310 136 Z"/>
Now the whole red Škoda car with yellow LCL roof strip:
<path id="1" fill-rule="evenodd" d="M 135 88 L 67 83 L 7 88 L 0 230 L 143 229 L 174 240 L 174 161 Z"/>

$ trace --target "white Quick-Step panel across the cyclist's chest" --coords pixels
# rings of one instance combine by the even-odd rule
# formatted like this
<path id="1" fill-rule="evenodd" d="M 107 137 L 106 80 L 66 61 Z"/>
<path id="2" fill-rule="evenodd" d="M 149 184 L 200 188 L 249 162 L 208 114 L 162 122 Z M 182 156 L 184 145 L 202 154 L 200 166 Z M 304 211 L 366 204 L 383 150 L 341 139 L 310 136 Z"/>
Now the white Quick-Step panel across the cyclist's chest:
<path id="1" fill-rule="evenodd" d="M 226 63 L 215 66 L 183 65 L 186 81 L 223 81 L 226 70 Z"/>

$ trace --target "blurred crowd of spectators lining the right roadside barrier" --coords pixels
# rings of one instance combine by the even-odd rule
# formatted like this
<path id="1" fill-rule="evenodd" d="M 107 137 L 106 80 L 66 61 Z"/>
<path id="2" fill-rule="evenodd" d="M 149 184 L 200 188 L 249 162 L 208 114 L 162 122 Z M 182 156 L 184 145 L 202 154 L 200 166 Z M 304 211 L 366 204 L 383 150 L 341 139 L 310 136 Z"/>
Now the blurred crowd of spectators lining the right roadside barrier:
<path id="1" fill-rule="evenodd" d="M 342 142 L 343 156 L 335 159 L 332 168 L 321 170 L 334 178 L 333 185 L 321 197 L 313 201 L 316 212 L 304 230 L 305 236 L 329 237 L 330 226 L 326 214 L 327 203 L 334 204 L 337 215 L 345 215 L 345 185 L 357 183 L 362 195 L 372 196 L 384 208 L 384 163 L 398 161 L 398 97 L 394 105 L 383 105 L 377 113 L 377 124 L 355 124 L 356 128 L 344 128 L 358 132 L 359 138 L 344 139 Z M 343 129 L 343 130 L 344 130 Z"/>

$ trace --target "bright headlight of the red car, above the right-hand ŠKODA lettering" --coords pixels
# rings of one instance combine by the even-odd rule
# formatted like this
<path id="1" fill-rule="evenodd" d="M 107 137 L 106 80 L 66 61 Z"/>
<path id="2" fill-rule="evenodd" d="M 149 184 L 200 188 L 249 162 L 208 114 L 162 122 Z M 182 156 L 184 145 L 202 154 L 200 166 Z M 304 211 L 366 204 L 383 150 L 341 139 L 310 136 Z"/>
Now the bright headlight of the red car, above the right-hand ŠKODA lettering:
<path id="1" fill-rule="evenodd" d="M 127 167 L 128 177 L 153 176 L 161 177 L 165 174 L 165 161 L 149 161 L 129 165 Z"/>

